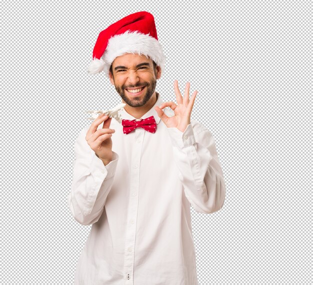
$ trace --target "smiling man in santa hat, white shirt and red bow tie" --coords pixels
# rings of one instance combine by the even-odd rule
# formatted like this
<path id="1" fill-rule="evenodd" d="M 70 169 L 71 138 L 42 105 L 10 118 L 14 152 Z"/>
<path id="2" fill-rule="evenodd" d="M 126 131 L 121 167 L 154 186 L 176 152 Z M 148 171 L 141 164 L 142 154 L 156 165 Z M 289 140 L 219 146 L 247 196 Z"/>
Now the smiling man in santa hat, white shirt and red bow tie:
<path id="1" fill-rule="evenodd" d="M 98 36 L 88 71 L 104 70 L 126 105 L 121 124 L 99 115 L 75 141 L 68 206 L 92 225 L 75 284 L 198 284 L 190 205 L 218 211 L 225 184 L 211 133 L 190 120 L 196 91 L 188 82 L 182 97 L 175 80 L 177 104 L 155 92 L 163 67 L 150 13 Z"/>

